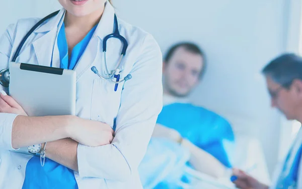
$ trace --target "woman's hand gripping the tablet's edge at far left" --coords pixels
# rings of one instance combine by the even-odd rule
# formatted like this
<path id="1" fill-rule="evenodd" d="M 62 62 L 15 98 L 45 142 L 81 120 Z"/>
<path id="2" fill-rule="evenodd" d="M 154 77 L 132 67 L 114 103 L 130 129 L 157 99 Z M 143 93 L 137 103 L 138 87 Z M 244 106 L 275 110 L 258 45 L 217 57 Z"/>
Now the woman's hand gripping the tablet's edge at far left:
<path id="1" fill-rule="evenodd" d="M 12 97 L 7 95 L 5 91 L 1 91 L 0 93 L 0 112 L 27 116 L 23 108 Z"/>

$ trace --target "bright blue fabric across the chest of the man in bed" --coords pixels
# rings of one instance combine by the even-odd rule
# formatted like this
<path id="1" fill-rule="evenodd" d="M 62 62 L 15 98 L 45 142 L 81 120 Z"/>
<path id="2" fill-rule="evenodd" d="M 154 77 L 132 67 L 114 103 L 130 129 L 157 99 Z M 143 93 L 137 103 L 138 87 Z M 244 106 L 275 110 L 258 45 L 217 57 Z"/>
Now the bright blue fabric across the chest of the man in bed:
<path id="1" fill-rule="evenodd" d="M 226 167 L 232 167 L 224 142 L 234 143 L 234 133 L 230 123 L 218 114 L 192 104 L 173 103 L 163 107 L 157 123 L 177 130 Z"/>

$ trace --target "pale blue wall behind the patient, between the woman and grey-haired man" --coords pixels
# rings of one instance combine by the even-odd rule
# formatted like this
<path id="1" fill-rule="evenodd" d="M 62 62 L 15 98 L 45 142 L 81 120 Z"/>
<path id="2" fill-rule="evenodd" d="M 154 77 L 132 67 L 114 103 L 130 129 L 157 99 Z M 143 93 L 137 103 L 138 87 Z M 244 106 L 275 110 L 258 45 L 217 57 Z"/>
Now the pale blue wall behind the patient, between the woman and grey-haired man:
<path id="1" fill-rule="evenodd" d="M 119 16 L 152 33 L 164 53 L 181 40 L 203 47 L 209 66 L 192 99 L 229 118 L 237 132 L 258 137 L 270 172 L 280 116 L 270 108 L 260 70 L 285 50 L 288 2 L 113 0 Z"/>

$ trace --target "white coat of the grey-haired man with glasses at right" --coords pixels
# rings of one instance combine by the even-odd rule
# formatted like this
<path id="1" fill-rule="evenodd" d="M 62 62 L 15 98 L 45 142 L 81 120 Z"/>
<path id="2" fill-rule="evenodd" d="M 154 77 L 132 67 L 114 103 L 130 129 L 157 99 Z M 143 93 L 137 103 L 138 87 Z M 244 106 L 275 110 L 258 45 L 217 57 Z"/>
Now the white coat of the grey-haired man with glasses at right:
<path id="1" fill-rule="evenodd" d="M 297 133 L 296 138 L 292 144 L 292 150 L 289 151 L 289 153 L 292 154 L 288 160 L 289 167 L 291 167 L 293 158 L 296 155 L 296 153 L 301 145 L 302 145 L 302 129 L 300 129 L 299 132 Z M 283 162 L 277 166 L 277 168 L 274 172 L 274 175 L 273 175 L 272 184 L 269 187 L 270 189 L 278 188 L 277 181 L 278 181 L 279 175 L 282 173 L 284 163 L 285 163 L 285 160 L 283 160 Z M 299 168 L 298 168 L 298 174 L 297 174 L 297 189 L 302 189 L 302 174 L 301 174 L 302 173 L 302 166 L 301 166 L 302 164 L 301 163 L 302 163 L 302 158 L 300 159 L 300 162 L 299 162 Z"/>

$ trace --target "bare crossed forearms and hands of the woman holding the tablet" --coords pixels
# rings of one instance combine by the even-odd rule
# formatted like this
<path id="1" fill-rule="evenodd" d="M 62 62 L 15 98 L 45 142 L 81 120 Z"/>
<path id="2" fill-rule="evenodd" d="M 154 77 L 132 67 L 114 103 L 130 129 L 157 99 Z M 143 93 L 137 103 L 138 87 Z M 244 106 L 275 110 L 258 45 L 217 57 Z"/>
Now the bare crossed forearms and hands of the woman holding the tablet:
<path id="1" fill-rule="evenodd" d="M 18 114 L 12 127 L 14 149 L 38 143 L 44 147 L 44 142 L 48 142 L 46 157 L 75 171 L 79 142 L 100 146 L 113 139 L 113 130 L 105 123 L 75 116 L 29 117 L 13 98 L 4 94 L 0 96 L 0 112 Z"/>

